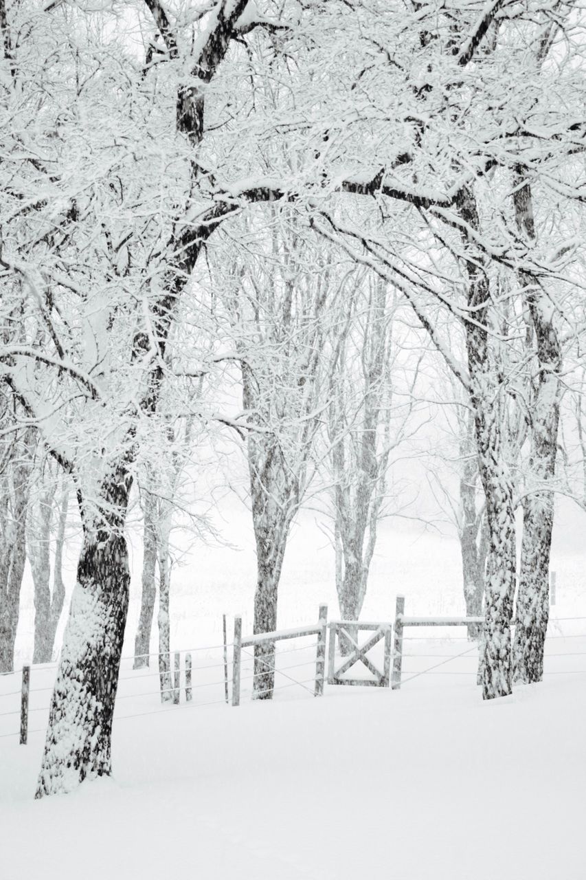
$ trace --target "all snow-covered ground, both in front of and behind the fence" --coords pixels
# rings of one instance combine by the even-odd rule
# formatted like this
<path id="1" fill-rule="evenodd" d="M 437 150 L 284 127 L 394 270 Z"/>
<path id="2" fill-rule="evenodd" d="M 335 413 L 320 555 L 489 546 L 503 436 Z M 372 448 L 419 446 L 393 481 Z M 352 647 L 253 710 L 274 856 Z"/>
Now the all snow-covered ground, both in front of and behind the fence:
<path id="1" fill-rule="evenodd" d="M 543 685 L 483 703 L 465 631 L 411 630 L 399 693 L 326 686 L 314 699 L 309 639 L 282 643 L 273 703 L 250 701 L 245 658 L 231 708 L 215 646 L 223 612 L 229 635 L 236 612 L 250 631 L 252 541 L 239 534 L 240 549 L 199 547 L 174 574 L 172 648 L 197 649 L 194 699 L 182 692 L 179 707 L 161 708 L 157 675 L 131 668 L 135 557 L 113 779 L 33 802 L 55 667 L 33 669 L 26 746 L 20 677 L 0 678 L 2 880 L 583 880 L 586 598 L 568 533 L 554 544 Z M 326 539 L 306 523 L 288 554 L 279 625 L 317 620 L 320 601 L 334 618 Z M 461 613 L 460 583 L 453 540 L 388 529 L 363 619 L 392 620 L 398 592 L 407 614 Z M 27 626 L 25 613 L 21 662 Z"/>

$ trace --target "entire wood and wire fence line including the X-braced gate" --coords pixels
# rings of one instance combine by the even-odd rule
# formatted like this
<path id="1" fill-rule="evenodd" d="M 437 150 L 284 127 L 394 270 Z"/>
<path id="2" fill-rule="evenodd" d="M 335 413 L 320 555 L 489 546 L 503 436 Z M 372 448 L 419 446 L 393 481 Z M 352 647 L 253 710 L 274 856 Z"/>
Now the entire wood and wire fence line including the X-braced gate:
<path id="1" fill-rule="evenodd" d="M 552 618 L 551 624 L 555 627 L 555 624 L 563 623 L 566 621 L 584 621 L 586 617 L 584 616 L 575 616 L 575 617 L 561 617 L 561 618 Z M 468 624 L 480 624 L 483 621 L 482 618 L 473 617 L 459 617 L 450 615 L 449 617 L 422 617 L 422 616 L 409 616 L 407 617 L 405 614 L 405 599 L 403 597 L 398 597 L 397 600 L 397 613 L 395 617 L 394 623 L 394 644 L 392 656 L 389 656 L 389 660 L 392 660 L 392 688 L 394 690 L 398 690 L 400 686 L 407 684 L 407 682 L 414 680 L 414 678 L 421 678 L 422 676 L 458 676 L 461 677 L 470 677 L 472 678 L 476 674 L 476 649 L 477 645 L 470 644 L 468 638 L 466 636 L 442 636 L 442 635 L 424 635 L 418 634 L 414 636 L 405 635 L 406 627 L 413 627 L 415 630 L 418 628 L 421 631 L 422 627 L 464 627 Z M 352 637 L 352 627 L 358 627 L 359 629 L 371 630 L 374 635 L 377 634 L 377 630 L 383 629 L 385 631 L 385 641 L 388 637 L 389 641 L 391 641 L 392 636 L 392 626 L 390 623 L 379 623 L 379 622 L 371 622 L 371 621 L 353 621 L 353 620 L 339 620 L 339 621 L 327 621 L 327 608 L 326 605 L 320 605 L 319 607 L 319 620 L 316 623 L 310 624 L 308 626 L 303 627 L 292 627 L 290 629 L 275 631 L 271 633 L 263 633 L 263 634 L 252 634 L 252 635 L 242 635 L 242 620 L 237 617 L 235 619 L 235 627 L 234 627 L 234 641 L 230 644 L 217 644 L 217 645 L 205 645 L 198 646 L 196 648 L 191 648 L 188 650 L 175 651 L 172 655 L 165 654 L 165 656 L 169 657 L 169 661 L 167 664 L 167 669 L 164 673 L 165 676 L 165 685 L 162 688 L 155 689 L 155 687 L 149 683 L 152 682 L 153 678 L 161 678 L 160 671 L 149 670 L 146 667 L 138 669 L 134 672 L 130 672 L 128 669 L 123 669 L 122 674 L 119 678 L 121 683 L 121 689 L 117 695 L 116 700 L 116 712 L 114 714 L 114 721 L 123 721 L 130 718 L 138 718 L 143 717 L 145 715 L 161 715 L 163 713 L 168 713 L 169 711 L 175 710 L 179 708 L 178 704 L 181 700 L 182 708 L 199 708 L 206 706 L 214 706 L 226 702 L 231 702 L 233 706 L 238 706 L 241 699 L 241 686 L 243 683 L 248 683 L 254 681 L 254 679 L 258 676 L 259 666 L 262 669 L 263 664 L 267 664 L 267 668 L 270 668 L 271 671 L 275 672 L 275 676 L 277 678 L 276 684 L 267 689 L 267 691 L 261 691 L 262 695 L 266 693 L 272 693 L 273 690 L 281 690 L 285 688 L 292 687 L 301 687 L 304 691 L 308 693 L 312 693 L 313 695 L 319 696 L 324 692 L 324 683 L 326 679 L 326 642 L 327 642 L 327 632 L 330 632 L 330 651 L 333 649 L 333 645 L 335 644 L 335 632 L 336 628 L 341 627 L 342 629 L 346 629 L 346 627 L 350 627 L 350 637 Z M 576 668 L 582 665 L 582 662 L 576 659 L 574 663 L 564 664 L 563 659 L 567 657 L 568 659 L 579 658 L 581 656 L 586 656 L 586 633 L 576 633 L 569 632 L 568 634 L 564 634 L 560 632 L 561 627 L 557 627 L 558 631 L 554 632 L 552 635 L 547 636 L 547 641 L 556 639 L 580 639 L 583 640 L 583 644 L 580 642 L 572 643 L 568 642 L 569 650 L 560 650 L 562 647 L 557 642 L 555 645 L 551 644 L 551 648 L 553 648 L 552 653 L 548 653 L 546 649 L 546 661 L 550 658 L 553 661 L 552 665 L 553 669 L 547 669 L 544 673 L 545 677 L 548 676 L 559 676 L 563 674 L 568 675 L 586 675 L 586 668 L 579 669 Z M 566 628 L 566 627 L 564 627 Z M 568 627 L 573 629 L 575 627 Z M 584 627 L 586 628 L 586 627 Z M 348 634 L 348 632 L 346 633 Z M 292 645 L 291 642 L 294 639 L 304 639 L 310 636 L 318 636 L 317 642 L 314 642 L 312 645 Z M 366 655 L 368 651 L 372 648 L 372 645 L 369 645 L 369 642 L 372 640 L 372 636 L 370 640 L 367 640 L 363 645 L 359 645 L 357 639 L 355 639 L 355 658 L 352 662 L 356 662 L 357 660 L 363 659 L 362 655 Z M 468 642 L 467 647 L 462 646 L 462 650 L 454 654 L 446 654 L 441 653 L 442 648 L 439 643 L 443 642 Z M 279 649 L 277 651 L 277 644 L 279 642 L 289 642 L 287 647 L 283 646 L 284 649 Z M 417 652 L 418 642 L 430 642 L 431 650 L 425 649 L 424 645 L 421 645 L 422 651 L 421 653 Z M 268 651 L 267 653 L 263 653 L 256 658 L 253 656 L 253 652 L 259 646 L 267 648 L 269 644 L 273 644 L 273 649 Z M 413 645 L 413 649 L 407 649 L 407 653 L 405 651 L 406 645 L 411 643 Z M 438 646 L 436 648 L 436 645 Z M 228 664 L 228 655 L 227 649 L 231 648 L 233 651 L 231 658 L 231 676 L 227 670 Z M 446 646 L 447 647 L 447 646 Z M 464 649 L 465 648 L 465 649 Z M 220 650 L 225 649 L 226 653 L 224 657 L 219 654 Z M 247 650 L 250 649 L 250 650 Z M 455 645 L 452 645 L 452 649 L 456 649 Z M 215 657 L 203 657 L 201 656 L 202 652 L 209 651 L 218 651 L 217 660 L 218 662 L 209 662 L 210 659 L 216 659 Z M 293 660 L 293 662 L 287 662 L 285 660 L 286 665 L 281 667 L 275 664 L 276 658 L 282 657 L 284 655 L 291 654 L 294 656 L 296 652 L 304 651 L 308 654 L 308 658 L 305 659 L 304 656 L 299 657 L 298 661 Z M 194 664 L 194 658 L 201 657 L 200 664 Z M 161 656 L 159 653 L 153 652 L 149 656 L 158 657 Z M 386 663 L 387 651 L 385 650 L 385 663 Z M 183 659 L 183 664 L 181 664 L 181 658 Z M 125 661 L 134 660 L 134 656 L 124 656 L 123 659 Z M 342 666 L 338 670 L 334 670 L 336 676 L 341 675 L 341 669 L 344 664 L 348 664 L 349 657 L 344 658 Z M 365 659 L 368 661 L 364 663 L 367 668 L 369 667 L 369 663 L 371 663 L 370 658 Z M 404 660 L 407 660 L 407 669 L 404 668 Z M 437 661 L 431 665 L 425 666 L 423 669 L 418 669 L 419 661 Z M 223 662 L 222 662 L 223 661 Z M 256 661 L 256 671 L 252 668 L 253 664 Z M 375 663 L 372 665 L 375 666 L 378 661 L 375 657 Z M 466 664 L 473 663 L 474 668 L 471 668 L 470 671 L 466 671 Z M 249 665 L 250 664 L 250 665 Z M 450 664 L 455 666 L 456 668 L 450 668 Z M 563 669 L 559 668 L 560 666 L 567 665 L 568 668 Z M 311 678 L 309 676 L 304 676 L 303 672 L 297 674 L 297 670 L 302 670 L 303 667 L 314 666 L 313 675 Z M 585 664 L 586 666 L 586 664 Z M 51 670 L 56 668 L 56 664 L 25 664 L 22 668 L 16 671 L 8 671 L 2 673 L 2 678 L 0 678 L 0 722 L 3 723 L 3 728 L 0 728 L 2 732 L 0 732 L 0 739 L 4 739 L 6 737 L 18 737 L 18 741 L 21 744 L 26 744 L 33 734 L 44 732 L 45 728 L 39 725 L 39 715 L 37 713 L 48 713 L 49 709 L 49 695 L 53 691 L 53 685 L 48 684 L 48 674 Z M 222 678 L 222 674 L 219 672 L 220 669 L 224 669 L 224 676 Z M 249 672 L 250 668 L 250 672 Z M 210 680 L 206 680 L 208 678 L 209 672 L 212 673 L 210 676 Z M 40 673 L 44 673 L 42 676 Z M 216 674 L 214 675 L 214 672 Z M 377 670 L 377 672 L 379 672 Z M 199 674 L 198 674 L 199 673 Z M 388 674 L 388 673 L 387 673 Z M 383 675 L 385 675 L 385 669 L 383 671 Z M 12 682 L 11 676 L 15 679 L 19 678 L 18 684 L 20 687 L 18 688 L 17 681 Z M 45 680 L 43 680 L 45 678 Z M 203 679 L 203 680 L 201 680 Z M 227 700 L 226 694 L 228 693 L 228 685 L 231 680 L 232 685 L 232 699 Z M 141 682 L 144 681 L 144 685 L 141 686 Z M 328 678 L 329 681 L 329 678 Z M 367 681 L 360 679 L 351 679 L 352 684 L 356 685 L 365 685 Z M 15 685 L 17 685 L 15 687 Z M 311 687 L 312 685 L 312 687 Z M 7 686 L 10 687 L 10 690 L 3 691 L 2 687 Z M 223 686 L 223 695 L 222 699 L 219 699 L 220 689 Z M 144 688 L 144 689 L 143 689 Z M 218 699 L 214 700 L 206 700 L 206 696 L 208 695 L 206 688 L 212 688 L 209 696 L 214 693 L 213 689 L 216 688 L 216 693 L 218 693 Z M 163 691 L 163 699 L 166 697 L 167 700 L 163 702 L 159 708 L 148 708 L 148 706 L 144 706 L 144 711 L 140 711 L 142 700 L 149 700 L 154 696 L 161 696 L 161 690 Z M 44 694 L 47 694 L 48 697 L 45 697 Z M 182 695 L 184 694 L 184 700 Z M 168 700 L 169 695 L 172 696 L 172 700 Z M 256 695 L 260 695 L 259 692 L 256 692 Z M 138 705 L 136 709 L 139 711 L 133 711 L 135 708 L 131 702 L 128 700 L 137 700 Z M 201 701 L 203 700 L 203 701 Z M 142 704 L 144 705 L 144 704 Z M 126 711 L 124 711 L 126 709 Z M 121 710 L 121 711 L 120 711 Z M 37 725 L 35 727 L 29 727 L 29 717 L 37 719 Z M 42 718 L 42 716 L 41 716 Z M 4 722 L 5 719 L 5 722 Z M 18 720 L 17 720 L 18 719 Z"/>

